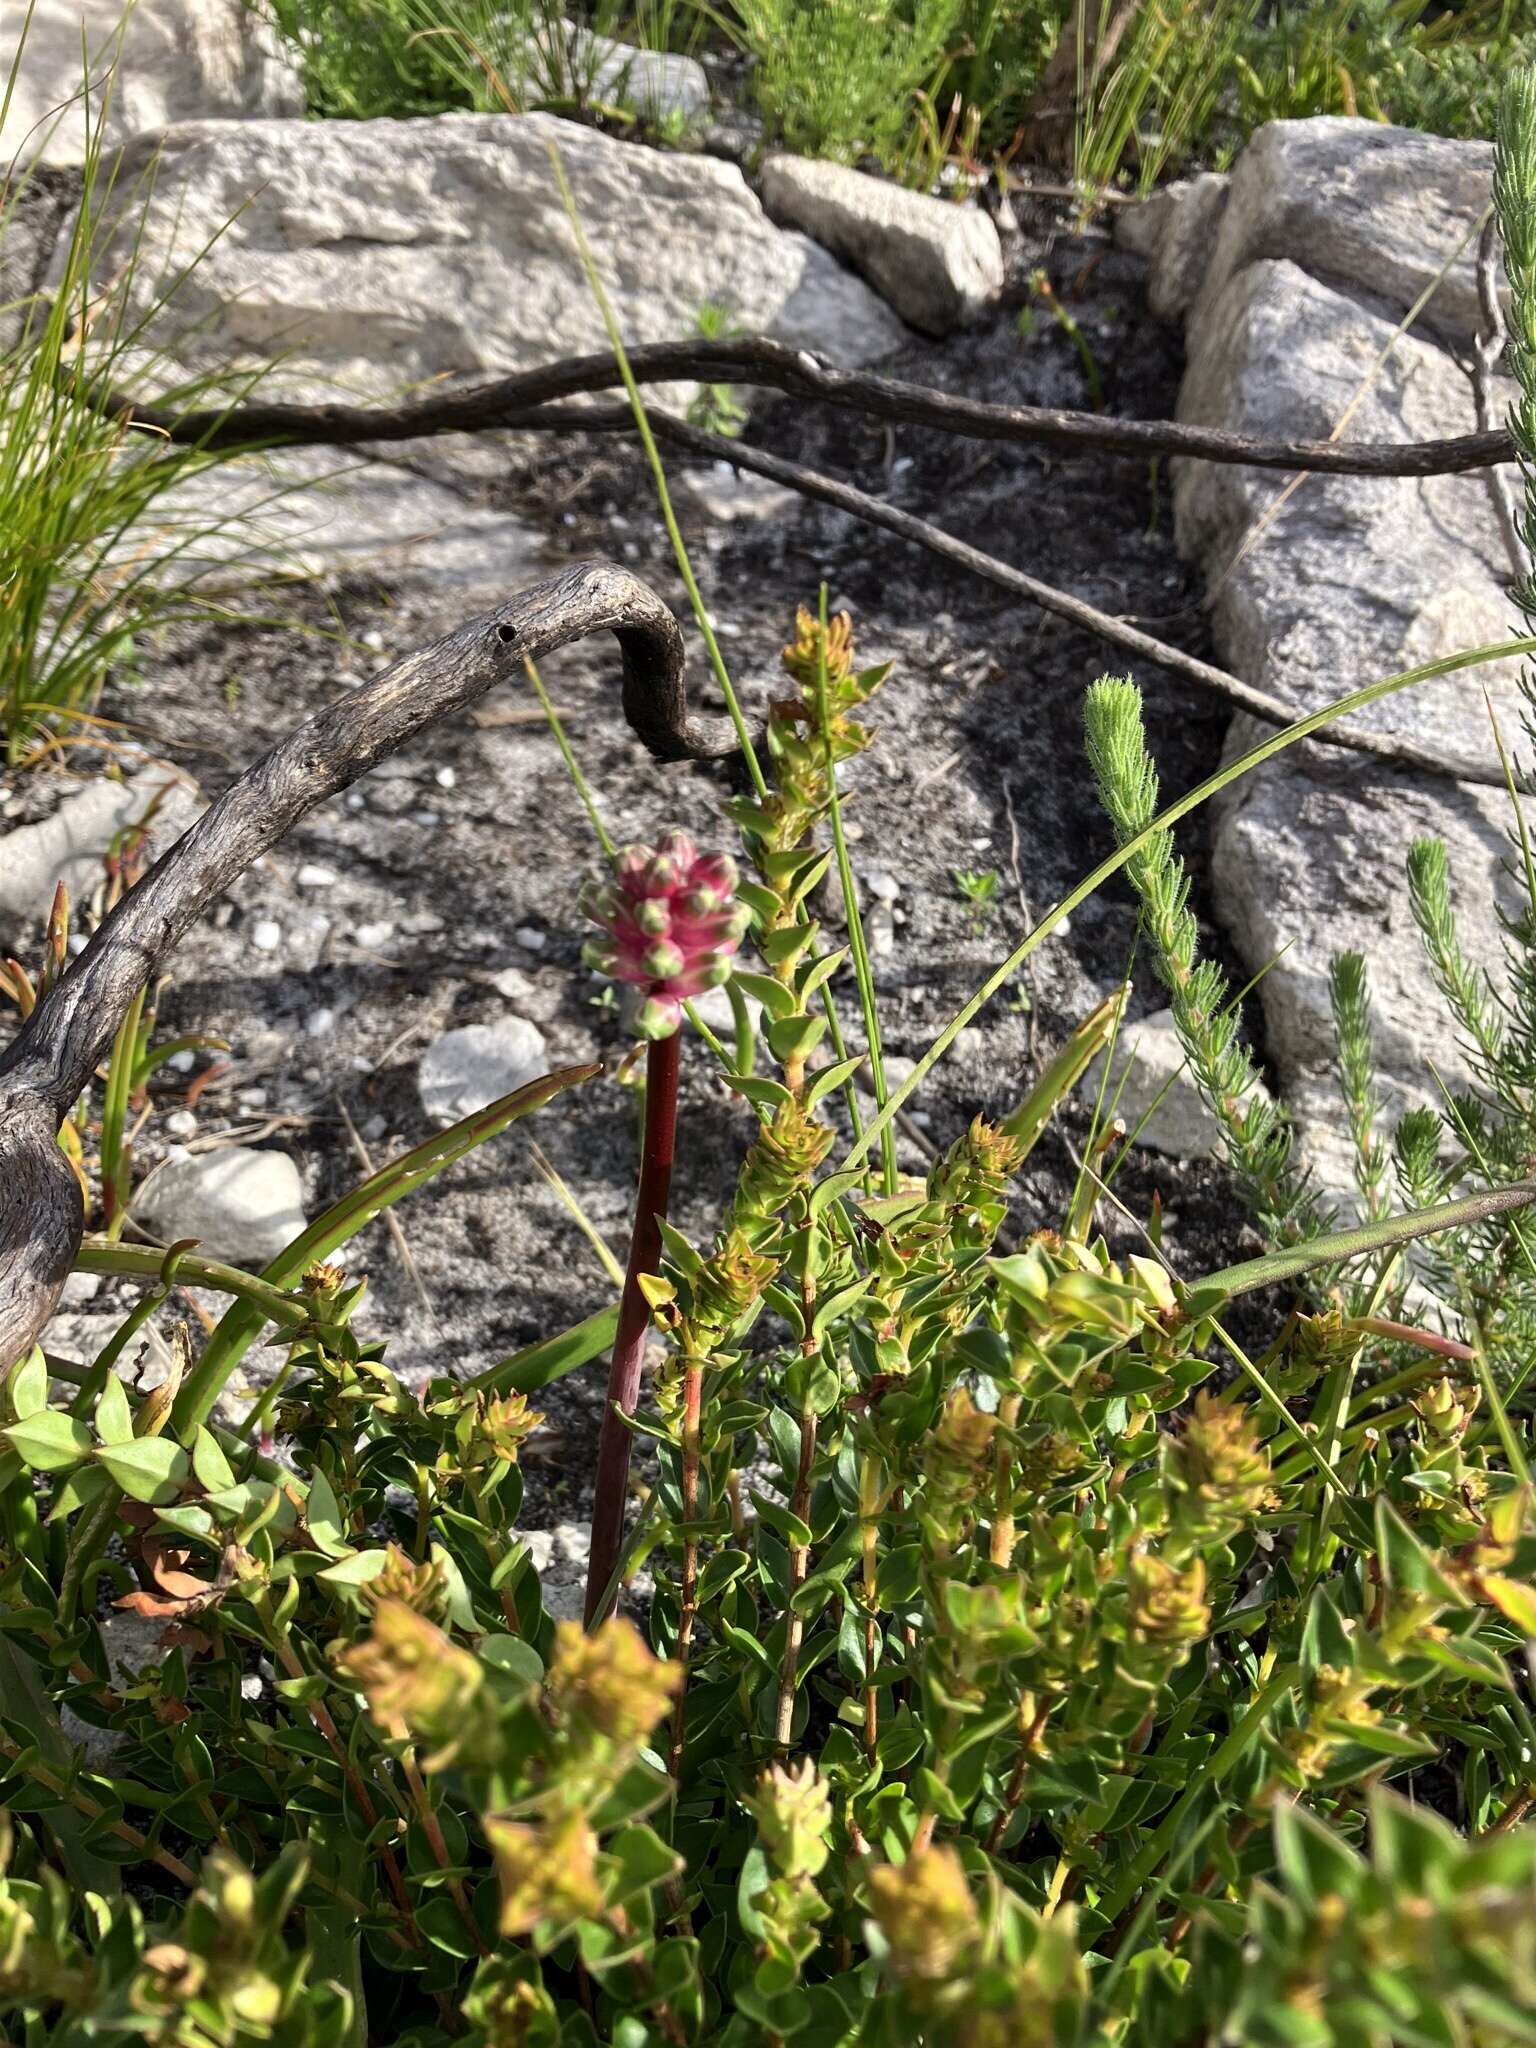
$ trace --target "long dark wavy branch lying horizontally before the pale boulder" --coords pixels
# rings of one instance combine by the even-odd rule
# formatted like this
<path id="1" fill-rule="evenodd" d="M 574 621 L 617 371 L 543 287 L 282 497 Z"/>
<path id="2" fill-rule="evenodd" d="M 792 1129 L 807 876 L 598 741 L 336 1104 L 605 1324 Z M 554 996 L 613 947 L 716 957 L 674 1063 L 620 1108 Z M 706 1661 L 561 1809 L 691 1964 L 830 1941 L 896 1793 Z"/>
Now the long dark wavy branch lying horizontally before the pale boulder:
<path id="1" fill-rule="evenodd" d="M 649 342 L 631 348 L 629 360 L 641 383 L 700 379 L 764 385 L 791 397 L 821 399 L 877 420 L 936 426 L 973 440 L 1022 440 L 1047 449 L 1096 449 L 1104 455 L 1184 455 L 1249 469 L 1309 469 L 1335 477 L 1436 477 L 1511 463 L 1516 453 L 1503 430 L 1417 442 L 1249 440 L 1178 420 L 1108 420 L 1096 412 L 1063 412 L 1055 406 L 993 406 L 870 371 L 840 371 L 805 348 L 760 336 L 733 342 Z M 205 449 L 317 442 L 356 446 L 367 440 L 520 426 L 522 416 L 539 406 L 582 391 L 612 391 L 621 381 L 618 365 L 604 352 L 569 356 L 492 383 L 451 387 L 403 406 L 283 406 L 256 399 L 221 412 L 174 412 L 121 393 L 106 403 L 135 426 Z"/>

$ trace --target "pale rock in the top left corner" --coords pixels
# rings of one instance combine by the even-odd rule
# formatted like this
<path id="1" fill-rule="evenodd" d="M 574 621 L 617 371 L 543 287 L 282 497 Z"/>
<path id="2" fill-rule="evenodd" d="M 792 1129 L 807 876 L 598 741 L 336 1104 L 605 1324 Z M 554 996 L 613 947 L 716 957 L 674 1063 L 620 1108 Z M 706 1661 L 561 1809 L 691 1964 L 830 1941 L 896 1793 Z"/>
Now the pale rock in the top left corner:
<path id="1" fill-rule="evenodd" d="M 37 0 L 31 27 L 27 12 L 25 0 L 0 8 L 0 80 L 20 49 L 0 164 L 80 164 L 96 121 L 121 143 L 205 115 L 303 113 L 297 72 L 244 0 L 137 0 L 127 12 L 119 0 Z"/>

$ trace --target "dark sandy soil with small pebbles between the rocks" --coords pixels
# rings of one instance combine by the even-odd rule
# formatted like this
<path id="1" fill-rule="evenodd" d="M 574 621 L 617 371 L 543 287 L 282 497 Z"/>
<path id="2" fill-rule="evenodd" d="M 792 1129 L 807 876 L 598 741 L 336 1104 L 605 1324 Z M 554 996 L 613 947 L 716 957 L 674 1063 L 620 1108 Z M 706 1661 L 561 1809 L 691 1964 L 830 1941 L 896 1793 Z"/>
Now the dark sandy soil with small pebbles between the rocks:
<path id="1" fill-rule="evenodd" d="M 913 340 L 889 369 L 983 397 L 1083 403 L 1073 342 L 1034 305 L 1026 283 L 1030 266 L 1047 264 L 1094 352 L 1106 408 L 1174 412 L 1178 340 L 1147 315 L 1137 258 L 1100 242 L 1053 240 L 1042 223 L 1026 223 L 1014 262 L 1018 285 L 987 326 L 946 344 Z M 1032 332 L 1020 334 L 1018 313 L 1030 307 Z M 1174 553 L 1159 479 L 1145 463 L 954 442 L 915 428 L 887 434 L 854 416 L 786 401 L 758 403 L 748 432 L 762 446 L 889 492 L 1006 561 L 1206 651 L 1198 592 Z M 506 457 L 494 492 L 549 535 L 551 565 L 610 553 L 686 610 L 633 446 L 600 436 L 559 444 L 522 438 Z M 715 524 L 690 504 L 682 516 L 698 578 L 754 711 L 778 688 L 778 649 L 795 606 L 813 604 L 823 580 L 834 606 L 854 614 L 862 659 L 895 662 L 872 709 L 877 745 L 854 764 L 848 815 L 860 877 L 883 870 L 901 885 L 895 944 L 877 969 L 887 1044 L 915 1057 L 1014 944 L 1028 913 L 1108 850 L 1083 760 L 1081 696 L 1094 676 L 1126 664 L 1085 633 L 846 514 L 795 504 L 768 520 Z M 420 594 L 391 606 L 377 592 L 350 590 L 334 612 L 313 600 L 309 623 L 330 631 L 340 623 L 354 637 L 352 649 L 330 631 L 195 635 L 152 655 L 147 680 L 104 709 L 147 727 L 213 793 L 274 733 L 332 696 L 338 672 L 369 674 L 379 664 L 377 649 L 356 645 L 362 633 L 381 635 L 383 653 L 395 653 L 457 621 Z M 1137 680 L 1165 788 L 1184 791 L 1219 760 L 1227 713 L 1178 676 L 1139 668 Z M 655 768 L 623 727 L 608 645 L 553 659 L 547 682 L 571 711 L 571 737 L 616 838 L 655 836 L 676 821 L 707 842 L 725 840 L 721 782 Z M 692 686 L 705 709 L 719 709 L 702 651 Z M 453 786 L 434 780 L 442 768 L 455 772 Z M 166 1026 L 217 1032 L 231 1044 L 227 1073 L 197 1102 L 199 1141 L 229 1133 L 289 1147 L 305 1174 L 311 1214 L 358 1178 L 338 1102 L 377 1161 L 428 1133 L 416 1067 L 438 1032 L 492 1022 L 512 1008 L 545 1032 L 551 1063 L 618 1061 L 625 1053 L 612 1012 L 594 1004 L 600 985 L 578 958 L 575 895 L 596 866 L 596 848 L 541 725 L 432 733 L 356 795 L 360 805 L 338 801 L 315 813 L 276 864 L 231 891 L 186 942 L 162 1006 Z M 1010 858 L 1010 803 L 1022 891 Z M 1202 834 L 1196 815 L 1182 836 L 1196 907 L 1204 901 Z M 301 891 L 295 877 L 305 862 L 334 868 L 338 883 Z M 954 885 L 956 868 L 1001 877 L 981 926 Z M 827 915 L 840 918 L 836 901 Z M 281 952 L 252 950 L 262 918 L 283 926 Z M 358 928 L 379 922 L 393 926 L 389 938 L 358 944 Z M 537 934 L 543 946 L 520 942 L 520 932 L 524 940 Z M 1077 911 L 1071 930 L 1036 954 L 1014 1001 L 995 1001 L 915 1098 L 932 1141 L 946 1145 L 977 1112 L 1008 1112 L 1038 1061 L 1126 975 L 1133 942 L 1124 887 Z M 508 967 L 528 983 L 512 1001 L 492 981 Z M 850 981 L 846 995 L 846 1016 L 854 1016 Z M 1022 1008 L 1020 995 L 1032 1008 Z M 1159 1006 L 1139 967 L 1137 1010 Z M 324 1012 L 332 1014 L 328 1028 L 309 1034 Z M 186 1077 L 170 1075 L 162 1106 L 174 1108 L 184 1087 Z M 1059 1221 L 1087 1126 L 1087 1108 L 1073 1106 L 1040 1145 L 1018 1190 L 1020 1229 Z M 748 1135 L 745 1108 L 696 1047 L 686 1057 L 674 1200 L 684 1229 L 709 1233 Z M 416 1274 L 383 1225 L 350 1247 L 348 1264 L 373 1284 L 369 1327 L 389 1337 L 391 1360 L 408 1376 L 471 1372 L 612 1298 L 590 1245 L 535 1171 L 530 1137 L 623 1257 L 635 1098 L 608 1077 L 565 1096 L 397 1212 Z M 907 1139 L 903 1163 L 922 1165 Z M 1135 1217 L 1161 1198 L 1165 1245 L 1186 1274 L 1245 1245 L 1231 1186 L 1210 1165 L 1139 1153 L 1116 1192 Z M 1122 1249 L 1135 1249 L 1124 1219 L 1108 1212 L 1104 1221 Z M 532 1489 L 535 1520 L 580 1509 L 598 1401 L 600 1368 L 545 1399 L 553 1423 L 549 1485 Z"/>

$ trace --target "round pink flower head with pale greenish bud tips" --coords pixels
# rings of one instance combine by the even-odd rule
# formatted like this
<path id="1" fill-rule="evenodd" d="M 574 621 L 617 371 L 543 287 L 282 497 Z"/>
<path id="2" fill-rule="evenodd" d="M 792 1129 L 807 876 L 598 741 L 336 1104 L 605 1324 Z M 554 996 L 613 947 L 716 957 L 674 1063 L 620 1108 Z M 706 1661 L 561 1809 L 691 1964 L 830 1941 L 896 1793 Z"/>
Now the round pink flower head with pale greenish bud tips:
<path id="1" fill-rule="evenodd" d="M 670 1038 L 682 1006 L 731 977 L 752 911 L 735 901 L 735 862 L 700 854 L 686 831 L 659 846 L 627 846 L 612 881 L 590 885 L 582 909 L 602 928 L 582 958 L 610 981 L 643 991 L 635 1028 Z"/>

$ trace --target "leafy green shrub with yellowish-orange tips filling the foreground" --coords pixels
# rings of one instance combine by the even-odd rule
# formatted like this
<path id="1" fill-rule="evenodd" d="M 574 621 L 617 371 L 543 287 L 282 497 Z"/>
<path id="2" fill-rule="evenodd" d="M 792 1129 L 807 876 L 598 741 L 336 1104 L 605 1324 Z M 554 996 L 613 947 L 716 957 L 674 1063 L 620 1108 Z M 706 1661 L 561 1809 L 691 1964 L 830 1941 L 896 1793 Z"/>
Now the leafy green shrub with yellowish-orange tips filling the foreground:
<path id="1" fill-rule="evenodd" d="M 236 1290 L 160 1389 L 117 1352 L 6 1376 L 0 2011 L 31 2048 L 1524 2038 L 1516 1425 L 1444 1346 L 1337 1307 L 1251 1362 L 1227 1311 L 1282 1268 L 1112 1257 L 1090 1178 L 999 1251 L 1118 997 L 926 1182 L 831 1169 L 809 897 L 883 672 L 805 616 L 786 666 L 733 807 L 756 1135 L 721 1231 L 668 1229 L 643 1288 L 645 1634 L 553 1622 L 516 1534 L 539 1386 L 612 1319 L 406 1389 L 326 1262 L 379 1182 L 264 1282 L 88 1245 L 150 1300 Z M 385 1171 L 395 1198 L 422 1161 Z M 264 1319 L 283 1382 L 231 1432 Z M 162 1651 L 113 1669 L 104 1606 Z"/>

